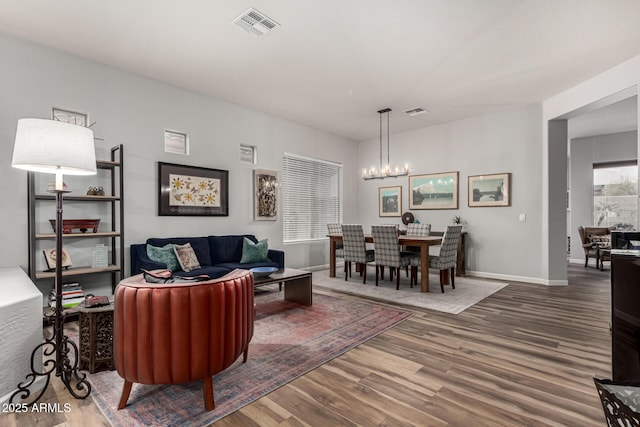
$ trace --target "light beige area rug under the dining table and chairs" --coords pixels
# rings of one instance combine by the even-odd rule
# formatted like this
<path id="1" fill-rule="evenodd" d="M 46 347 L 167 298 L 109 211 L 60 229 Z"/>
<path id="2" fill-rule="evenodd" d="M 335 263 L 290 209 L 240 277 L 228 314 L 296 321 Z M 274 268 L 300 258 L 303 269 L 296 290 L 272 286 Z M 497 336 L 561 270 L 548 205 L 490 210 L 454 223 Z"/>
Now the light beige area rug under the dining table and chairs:
<path id="1" fill-rule="evenodd" d="M 360 274 L 355 271 L 352 271 L 352 276 L 345 281 L 343 266 L 339 265 L 336 268 L 336 277 L 329 277 L 329 269 L 314 271 L 313 285 L 379 301 L 428 308 L 451 314 L 461 313 L 508 285 L 508 283 L 495 280 L 456 277 L 456 288 L 451 289 L 451 286 L 445 285 L 444 293 L 442 293 L 439 276 L 430 274 L 429 292 L 421 293 L 419 279 L 418 286 L 411 288 L 405 272 L 401 271 L 400 289 L 396 290 L 395 280 L 389 281 L 389 270 L 385 269 L 385 273 L 385 280 L 380 280 L 376 287 L 376 273 L 372 266 L 368 267 L 367 283 L 363 284 Z"/>

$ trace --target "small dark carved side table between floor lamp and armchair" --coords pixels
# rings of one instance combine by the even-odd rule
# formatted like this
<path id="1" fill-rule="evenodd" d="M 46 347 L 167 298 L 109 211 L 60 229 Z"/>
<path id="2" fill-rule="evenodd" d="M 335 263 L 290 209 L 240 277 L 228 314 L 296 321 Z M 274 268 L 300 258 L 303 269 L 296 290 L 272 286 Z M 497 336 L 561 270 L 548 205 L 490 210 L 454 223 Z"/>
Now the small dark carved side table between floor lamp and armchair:
<path id="1" fill-rule="evenodd" d="M 74 307 L 80 313 L 80 369 L 95 373 L 115 369 L 113 360 L 113 300 L 102 307 Z"/>

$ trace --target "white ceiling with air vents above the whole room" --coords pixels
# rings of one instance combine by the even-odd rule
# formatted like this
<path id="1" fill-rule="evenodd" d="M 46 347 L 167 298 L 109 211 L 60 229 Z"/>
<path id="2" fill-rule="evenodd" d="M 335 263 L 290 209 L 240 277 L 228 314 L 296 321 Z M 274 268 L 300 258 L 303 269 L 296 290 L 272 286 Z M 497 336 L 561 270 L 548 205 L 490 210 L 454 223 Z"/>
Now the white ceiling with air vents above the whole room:
<path id="1" fill-rule="evenodd" d="M 281 24 L 231 22 L 255 7 Z M 0 0 L 0 32 L 355 140 L 541 102 L 640 54 L 637 0 Z M 427 114 L 402 111 L 423 107 Z"/>

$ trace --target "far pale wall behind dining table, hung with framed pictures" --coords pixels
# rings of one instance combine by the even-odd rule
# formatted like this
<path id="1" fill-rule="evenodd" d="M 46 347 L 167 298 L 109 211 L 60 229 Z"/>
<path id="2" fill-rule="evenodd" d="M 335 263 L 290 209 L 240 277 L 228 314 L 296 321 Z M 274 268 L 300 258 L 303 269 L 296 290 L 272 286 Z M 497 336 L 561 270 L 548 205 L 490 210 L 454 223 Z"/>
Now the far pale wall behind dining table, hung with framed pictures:
<path id="1" fill-rule="evenodd" d="M 540 106 L 531 106 L 390 137 L 392 165 L 409 162 L 412 175 L 459 171 L 459 209 L 412 212 L 420 222 L 431 223 L 433 230 L 445 230 L 454 215 L 469 222 L 469 274 L 541 282 L 540 120 Z M 379 139 L 361 142 L 359 157 L 359 171 L 377 167 Z M 469 175 L 504 172 L 511 173 L 511 206 L 468 207 Z M 365 230 L 372 224 L 401 223 L 400 218 L 378 216 L 378 187 L 395 185 L 402 185 L 402 210 L 409 210 L 407 177 L 360 180 L 358 201 Z M 526 214 L 526 222 L 519 222 L 520 213 Z"/>

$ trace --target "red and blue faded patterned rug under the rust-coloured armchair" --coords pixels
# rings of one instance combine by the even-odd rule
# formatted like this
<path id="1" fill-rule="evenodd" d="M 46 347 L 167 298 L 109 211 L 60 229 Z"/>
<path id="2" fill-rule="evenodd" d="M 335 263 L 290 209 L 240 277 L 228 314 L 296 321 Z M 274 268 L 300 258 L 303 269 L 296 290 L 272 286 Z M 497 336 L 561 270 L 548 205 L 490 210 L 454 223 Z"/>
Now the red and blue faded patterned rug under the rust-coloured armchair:
<path id="1" fill-rule="evenodd" d="M 315 275 L 314 275 L 315 276 Z M 134 384 L 125 409 L 116 409 L 123 380 L 116 371 L 88 375 L 91 397 L 113 426 L 204 426 L 328 362 L 411 315 L 366 302 L 313 294 L 313 306 L 256 293 L 255 332 L 249 359 L 242 356 L 213 377 L 216 408 L 207 412 L 202 382 Z"/>

